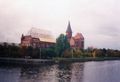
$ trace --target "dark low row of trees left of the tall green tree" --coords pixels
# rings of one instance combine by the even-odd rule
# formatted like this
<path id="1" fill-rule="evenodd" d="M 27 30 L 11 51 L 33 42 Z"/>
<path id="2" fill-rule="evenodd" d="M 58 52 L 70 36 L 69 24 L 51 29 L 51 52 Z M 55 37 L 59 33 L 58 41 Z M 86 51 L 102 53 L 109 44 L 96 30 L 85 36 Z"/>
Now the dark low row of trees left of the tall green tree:
<path id="1" fill-rule="evenodd" d="M 50 48 L 33 48 L 29 47 L 20 47 L 14 44 L 9 45 L 7 43 L 3 43 L 0 45 L 0 57 L 10 57 L 10 58 L 52 58 L 55 56 L 54 47 Z"/>

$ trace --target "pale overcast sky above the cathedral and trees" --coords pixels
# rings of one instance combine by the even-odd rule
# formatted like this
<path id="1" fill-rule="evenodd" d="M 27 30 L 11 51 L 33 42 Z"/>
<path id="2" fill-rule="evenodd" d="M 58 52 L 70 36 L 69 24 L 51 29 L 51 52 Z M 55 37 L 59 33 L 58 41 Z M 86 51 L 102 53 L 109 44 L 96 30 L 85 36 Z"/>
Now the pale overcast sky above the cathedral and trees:
<path id="1" fill-rule="evenodd" d="M 31 27 L 57 37 L 68 20 L 85 47 L 120 49 L 120 0 L 0 0 L 0 42 L 20 42 Z"/>

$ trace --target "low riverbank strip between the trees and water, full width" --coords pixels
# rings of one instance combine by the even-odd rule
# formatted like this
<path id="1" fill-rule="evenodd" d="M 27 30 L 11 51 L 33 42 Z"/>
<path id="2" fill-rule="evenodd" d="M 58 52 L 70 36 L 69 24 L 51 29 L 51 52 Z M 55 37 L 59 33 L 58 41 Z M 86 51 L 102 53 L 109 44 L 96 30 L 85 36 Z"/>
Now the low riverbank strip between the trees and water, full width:
<path id="1" fill-rule="evenodd" d="M 87 61 L 106 61 L 120 60 L 119 57 L 84 57 L 84 58 L 53 58 L 53 59 L 25 59 L 25 58 L 0 58 L 0 64 L 16 64 L 16 65 L 39 65 L 54 64 L 63 62 L 87 62 Z"/>

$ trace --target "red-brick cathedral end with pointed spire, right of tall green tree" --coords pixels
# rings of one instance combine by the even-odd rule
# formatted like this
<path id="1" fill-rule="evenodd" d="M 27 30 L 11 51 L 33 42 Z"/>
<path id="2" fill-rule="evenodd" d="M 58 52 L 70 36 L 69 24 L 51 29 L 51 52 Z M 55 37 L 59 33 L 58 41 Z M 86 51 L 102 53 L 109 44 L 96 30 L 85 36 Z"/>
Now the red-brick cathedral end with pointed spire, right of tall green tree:
<path id="1" fill-rule="evenodd" d="M 84 49 L 84 37 L 82 33 L 77 33 L 75 36 L 72 36 L 72 29 L 70 22 L 68 23 L 67 26 L 66 37 L 70 43 L 71 48 Z"/>

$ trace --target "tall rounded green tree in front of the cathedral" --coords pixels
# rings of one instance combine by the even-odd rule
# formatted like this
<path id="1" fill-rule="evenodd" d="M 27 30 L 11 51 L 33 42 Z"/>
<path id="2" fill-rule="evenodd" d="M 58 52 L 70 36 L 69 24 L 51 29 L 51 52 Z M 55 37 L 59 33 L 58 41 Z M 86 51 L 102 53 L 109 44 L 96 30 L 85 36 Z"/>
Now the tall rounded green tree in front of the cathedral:
<path id="1" fill-rule="evenodd" d="M 70 48 L 70 44 L 67 37 L 64 34 L 60 34 L 56 40 L 56 54 L 61 57 L 62 53 L 68 48 Z"/>

